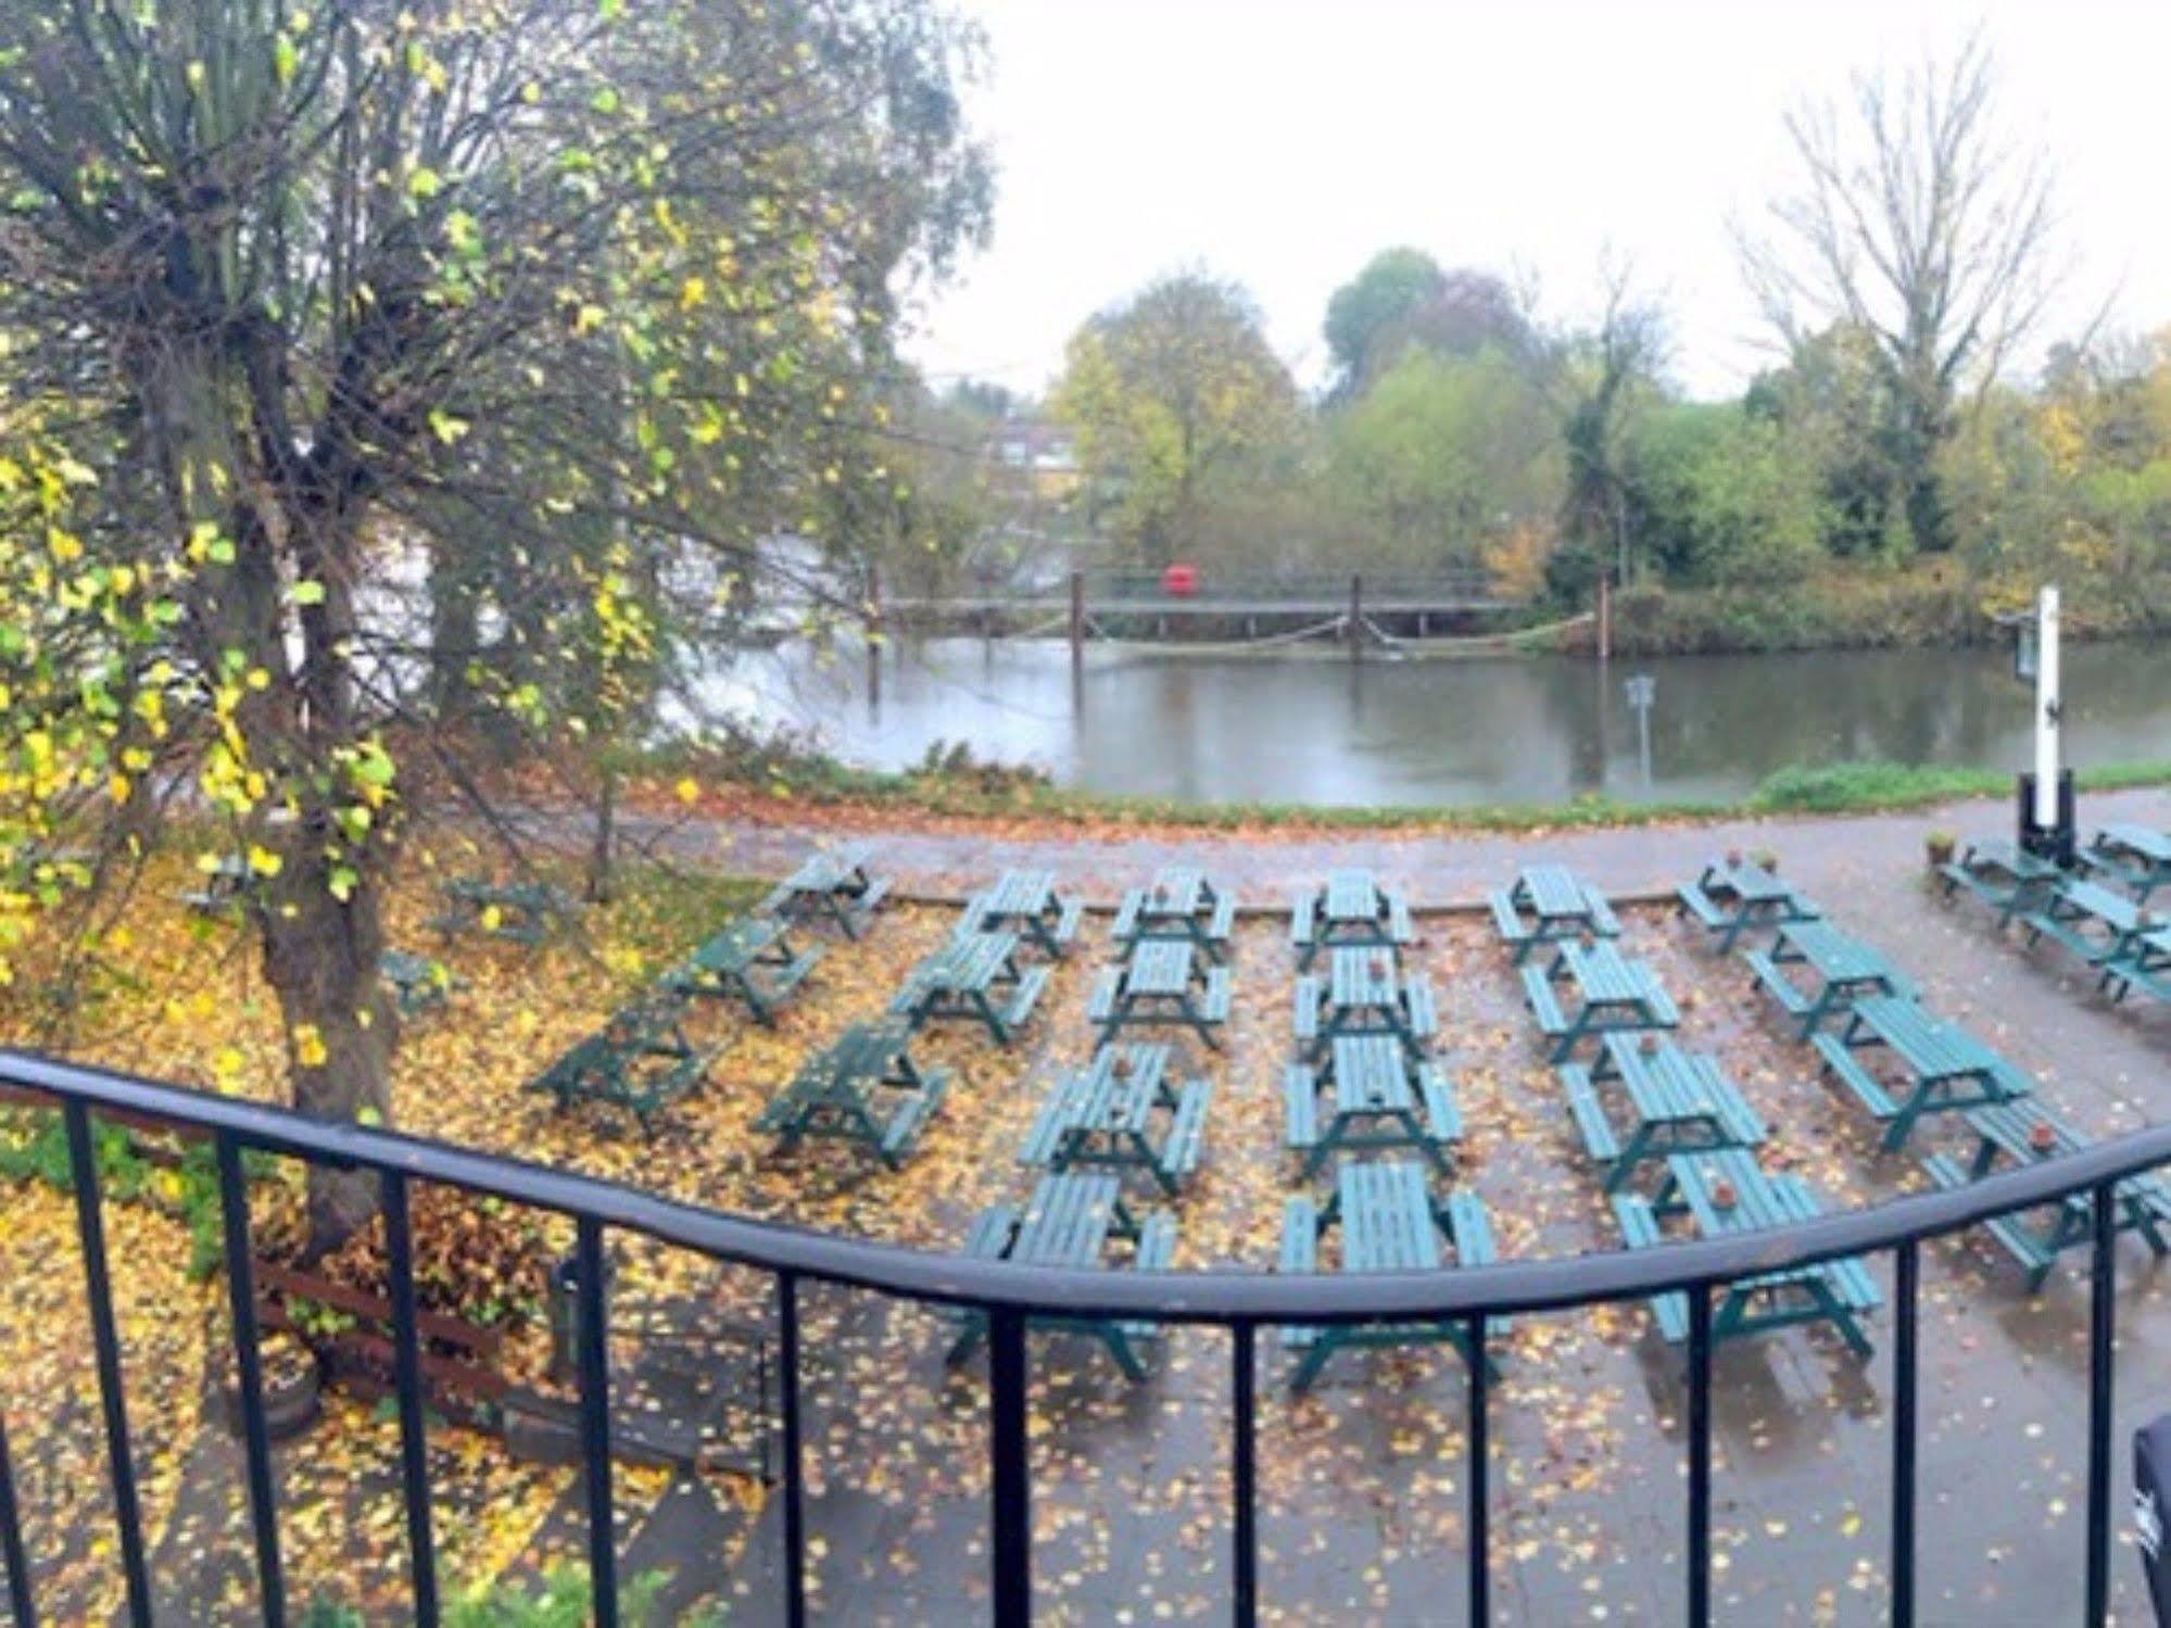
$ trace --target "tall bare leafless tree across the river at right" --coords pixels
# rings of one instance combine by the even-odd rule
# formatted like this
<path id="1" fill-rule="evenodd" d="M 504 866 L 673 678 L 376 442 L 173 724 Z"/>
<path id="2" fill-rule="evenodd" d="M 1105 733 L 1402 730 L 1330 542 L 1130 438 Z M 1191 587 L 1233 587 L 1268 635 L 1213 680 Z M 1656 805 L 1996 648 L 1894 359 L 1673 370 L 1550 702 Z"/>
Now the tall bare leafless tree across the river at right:
<path id="1" fill-rule="evenodd" d="M 2054 287 L 2049 176 L 1997 139 L 1993 91 L 1976 37 L 1943 67 L 1856 78 L 1845 119 L 1798 106 L 1787 135 L 1800 191 L 1772 204 L 1769 234 L 1737 232 L 1750 287 L 1791 347 L 1834 323 L 1869 336 L 1900 501 L 1928 551 L 1954 540 L 1939 449 L 1960 395 L 1997 376 Z"/>

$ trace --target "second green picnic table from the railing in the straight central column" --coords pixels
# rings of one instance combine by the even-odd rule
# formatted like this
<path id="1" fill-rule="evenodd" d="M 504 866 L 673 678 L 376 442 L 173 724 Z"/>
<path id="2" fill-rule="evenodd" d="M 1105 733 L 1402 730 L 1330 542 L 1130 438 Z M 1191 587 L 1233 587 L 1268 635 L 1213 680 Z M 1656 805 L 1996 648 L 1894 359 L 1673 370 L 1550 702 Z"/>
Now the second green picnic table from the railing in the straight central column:
<path id="1" fill-rule="evenodd" d="M 1322 1066 L 1290 1064 L 1281 1103 L 1283 1140 L 1303 1159 L 1307 1181 L 1337 1153 L 1379 1148 L 1415 1153 L 1448 1174 L 1446 1148 L 1463 1133 L 1446 1074 L 1411 1061 L 1394 1035 L 1337 1035 Z"/>

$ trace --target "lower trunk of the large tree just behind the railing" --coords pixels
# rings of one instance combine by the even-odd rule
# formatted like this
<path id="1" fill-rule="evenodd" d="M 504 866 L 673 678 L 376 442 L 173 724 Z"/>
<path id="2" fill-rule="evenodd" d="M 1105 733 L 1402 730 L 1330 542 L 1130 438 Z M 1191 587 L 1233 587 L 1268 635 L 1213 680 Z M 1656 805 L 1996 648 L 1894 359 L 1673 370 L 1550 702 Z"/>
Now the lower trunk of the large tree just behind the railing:
<path id="1" fill-rule="evenodd" d="M 321 860 L 310 862 L 310 847 L 291 847 L 269 907 L 258 912 L 265 977 L 287 1025 L 293 1103 L 321 1120 L 389 1124 L 399 1016 L 378 975 L 378 890 L 365 877 L 341 903 Z M 343 1244 L 378 1213 L 380 1196 L 373 1172 L 310 1166 L 308 1252 Z"/>

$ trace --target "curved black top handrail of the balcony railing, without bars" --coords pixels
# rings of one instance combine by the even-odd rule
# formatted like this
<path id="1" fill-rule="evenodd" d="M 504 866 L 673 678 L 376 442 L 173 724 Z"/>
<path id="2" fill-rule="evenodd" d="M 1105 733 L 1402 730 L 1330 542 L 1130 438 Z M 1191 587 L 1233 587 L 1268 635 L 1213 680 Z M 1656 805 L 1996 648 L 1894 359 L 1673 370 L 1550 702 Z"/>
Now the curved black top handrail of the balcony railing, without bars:
<path id="1" fill-rule="evenodd" d="M 510 1203 L 588 1216 L 606 1226 L 699 1250 L 740 1265 L 1029 1315 L 1142 1318 L 1253 1326 L 1272 1322 L 1424 1322 L 1552 1311 L 1626 1300 L 1663 1289 L 1726 1283 L 1759 1272 L 1813 1265 L 1839 1255 L 1897 1248 L 1991 1216 L 2171 1163 L 2171 1124 L 2154 1124 L 1978 1183 L 1893 1198 L 1732 1237 L 1652 1250 L 1496 1261 L 1452 1272 L 1366 1272 L 1281 1276 L 1272 1272 L 1079 1272 L 901 1244 L 814 1233 L 803 1226 L 727 1216 L 597 1177 L 528 1163 L 447 1142 L 363 1124 L 326 1122 L 284 1107 L 167 1085 L 39 1053 L 0 1048 L 0 1085 L 26 1088 L 89 1107 L 169 1120 L 269 1153 L 317 1163 L 393 1170 Z"/>

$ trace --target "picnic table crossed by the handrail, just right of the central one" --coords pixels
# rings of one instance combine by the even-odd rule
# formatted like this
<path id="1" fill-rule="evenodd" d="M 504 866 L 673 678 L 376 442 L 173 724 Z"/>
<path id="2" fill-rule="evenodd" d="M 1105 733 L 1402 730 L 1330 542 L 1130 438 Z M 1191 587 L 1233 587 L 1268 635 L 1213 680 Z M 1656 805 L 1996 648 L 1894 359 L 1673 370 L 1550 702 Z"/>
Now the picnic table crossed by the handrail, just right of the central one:
<path id="1" fill-rule="evenodd" d="M 1687 1213 L 1704 1237 L 1728 1237 L 1815 1220 L 1821 1209 L 1800 1177 L 1765 1174 L 1756 1155 L 1743 1148 L 1676 1153 L 1665 1168 L 1665 1187 L 1659 1196 L 1613 1196 L 1613 1213 L 1633 1250 L 1665 1242 L 1659 1229 L 1663 1216 Z M 1867 1359 L 1871 1344 L 1861 1318 L 1878 1305 L 1882 1294 L 1858 1255 L 1761 1272 L 1737 1279 L 1719 1292 L 1711 1315 L 1711 1339 L 1717 1344 L 1798 1322 L 1828 1322 L 1856 1357 Z M 1685 1294 L 1678 1289 L 1656 1294 L 1650 1309 L 1667 1344 L 1678 1346 L 1689 1337 Z"/>

